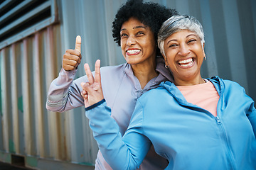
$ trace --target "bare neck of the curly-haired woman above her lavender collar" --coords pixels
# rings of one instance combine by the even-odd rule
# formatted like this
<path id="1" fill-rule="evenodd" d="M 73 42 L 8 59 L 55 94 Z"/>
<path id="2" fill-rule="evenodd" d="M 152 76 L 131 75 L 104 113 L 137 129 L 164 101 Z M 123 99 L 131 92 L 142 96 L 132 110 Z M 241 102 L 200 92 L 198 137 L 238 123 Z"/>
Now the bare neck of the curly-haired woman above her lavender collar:
<path id="1" fill-rule="evenodd" d="M 156 62 L 152 64 L 146 64 L 146 65 L 139 65 L 139 64 L 132 65 L 132 71 L 134 72 L 134 76 L 137 77 L 137 79 L 139 80 L 139 83 L 142 89 L 144 89 L 146 84 L 151 79 L 153 79 L 158 75 L 156 73 L 155 68 L 156 68 Z"/>

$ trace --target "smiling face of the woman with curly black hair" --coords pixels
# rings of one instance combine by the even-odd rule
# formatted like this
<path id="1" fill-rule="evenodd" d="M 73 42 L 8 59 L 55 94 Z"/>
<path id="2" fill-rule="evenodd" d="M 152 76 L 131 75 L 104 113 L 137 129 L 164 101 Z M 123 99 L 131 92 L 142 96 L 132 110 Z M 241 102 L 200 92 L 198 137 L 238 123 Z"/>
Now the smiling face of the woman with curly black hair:
<path id="1" fill-rule="evenodd" d="M 156 42 L 154 33 L 136 18 L 129 18 L 120 31 L 124 59 L 132 65 L 154 63 Z"/>

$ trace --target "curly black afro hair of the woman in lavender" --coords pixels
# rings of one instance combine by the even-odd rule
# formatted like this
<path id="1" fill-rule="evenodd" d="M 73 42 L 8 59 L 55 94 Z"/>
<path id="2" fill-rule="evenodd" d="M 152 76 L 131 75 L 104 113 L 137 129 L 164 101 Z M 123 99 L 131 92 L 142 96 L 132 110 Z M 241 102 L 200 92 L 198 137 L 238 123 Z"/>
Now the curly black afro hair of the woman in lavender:
<path id="1" fill-rule="evenodd" d="M 143 3 L 143 0 L 128 0 L 127 3 L 117 11 L 112 23 L 112 36 L 114 41 L 120 46 L 120 30 L 122 24 L 128 21 L 129 18 L 134 17 L 144 25 L 149 26 L 154 33 L 157 44 L 157 33 L 162 23 L 176 14 L 178 14 L 178 12 L 175 9 L 166 8 L 156 3 Z"/>

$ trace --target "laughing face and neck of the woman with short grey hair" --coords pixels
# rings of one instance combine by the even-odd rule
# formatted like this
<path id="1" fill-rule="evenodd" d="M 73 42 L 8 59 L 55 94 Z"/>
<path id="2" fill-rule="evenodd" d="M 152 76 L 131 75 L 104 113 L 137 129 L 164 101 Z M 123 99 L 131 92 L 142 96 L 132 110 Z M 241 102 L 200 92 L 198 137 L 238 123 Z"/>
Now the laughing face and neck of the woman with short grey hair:
<path id="1" fill-rule="evenodd" d="M 201 40 L 190 30 L 181 30 L 164 40 L 166 65 L 174 75 L 174 84 L 188 86 L 203 83 L 201 65 L 205 52 Z"/>

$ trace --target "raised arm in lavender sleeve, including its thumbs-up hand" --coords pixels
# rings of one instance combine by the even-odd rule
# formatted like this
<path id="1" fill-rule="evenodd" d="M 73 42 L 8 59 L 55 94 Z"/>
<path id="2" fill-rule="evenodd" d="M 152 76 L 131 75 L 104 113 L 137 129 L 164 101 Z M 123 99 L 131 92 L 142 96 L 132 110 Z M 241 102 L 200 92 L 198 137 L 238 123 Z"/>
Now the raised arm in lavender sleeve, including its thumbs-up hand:
<path id="1" fill-rule="evenodd" d="M 48 111 L 68 111 L 72 108 L 83 106 L 83 98 L 80 95 L 80 82 L 87 81 L 86 77 L 75 78 L 78 64 L 81 61 L 81 38 L 77 36 L 75 50 L 67 50 L 63 55 L 63 68 L 59 76 L 53 80 L 48 90 L 46 108 Z"/>

